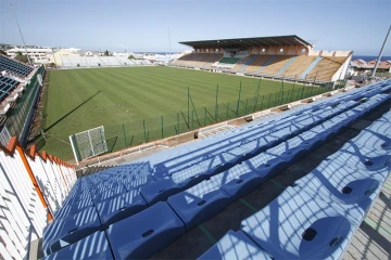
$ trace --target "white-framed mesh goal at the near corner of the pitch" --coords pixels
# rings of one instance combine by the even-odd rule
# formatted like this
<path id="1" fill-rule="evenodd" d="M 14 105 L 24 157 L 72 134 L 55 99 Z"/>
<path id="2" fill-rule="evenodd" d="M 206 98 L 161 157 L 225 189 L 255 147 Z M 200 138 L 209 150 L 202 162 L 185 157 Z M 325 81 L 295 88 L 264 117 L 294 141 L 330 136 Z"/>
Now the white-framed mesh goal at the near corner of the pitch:
<path id="1" fill-rule="evenodd" d="M 72 134 L 70 141 L 77 164 L 108 152 L 103 126 Z"/>

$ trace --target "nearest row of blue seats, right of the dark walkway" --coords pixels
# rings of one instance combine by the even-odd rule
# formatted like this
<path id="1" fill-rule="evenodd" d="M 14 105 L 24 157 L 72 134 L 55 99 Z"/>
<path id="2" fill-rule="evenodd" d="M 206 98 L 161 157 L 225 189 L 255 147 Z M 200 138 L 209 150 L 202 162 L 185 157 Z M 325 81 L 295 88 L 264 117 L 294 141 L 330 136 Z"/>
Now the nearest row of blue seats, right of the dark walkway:
<path id="1" fill-rule="evenodd" d="M 340 259 L 391 170 L 391 112 L 200 259 Z"/>

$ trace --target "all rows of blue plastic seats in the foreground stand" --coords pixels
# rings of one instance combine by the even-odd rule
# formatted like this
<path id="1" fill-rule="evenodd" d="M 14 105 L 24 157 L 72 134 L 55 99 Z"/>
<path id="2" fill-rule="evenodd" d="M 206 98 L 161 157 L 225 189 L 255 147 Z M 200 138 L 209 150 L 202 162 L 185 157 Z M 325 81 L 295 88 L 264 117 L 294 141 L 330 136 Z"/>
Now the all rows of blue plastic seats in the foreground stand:
<path id="1" fill-rule="evenodd" d="M 83 177 L 46 227 L 43 252 L 151 257 L 389 102 L 390 89 L 390 81 L 356 89 Z M 390 172 L 390 120 L 384 114 L 201 259 L 339 258 Z M 104 233 L 110 251 L 75 255 Z"/>

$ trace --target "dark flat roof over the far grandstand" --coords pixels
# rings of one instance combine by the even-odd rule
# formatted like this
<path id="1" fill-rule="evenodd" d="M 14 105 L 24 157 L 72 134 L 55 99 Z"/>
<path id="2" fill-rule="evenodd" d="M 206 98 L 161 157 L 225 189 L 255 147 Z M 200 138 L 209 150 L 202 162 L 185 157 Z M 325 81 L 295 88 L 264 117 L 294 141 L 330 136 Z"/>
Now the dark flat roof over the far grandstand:
<path id="1" fill-rule="evenodd" d="M 248 48 L 248 47 L 269 47 L 269 46 L 311 46 L 297 35 L 272 36 L 238 39 L 201 40 L 179 42 L 192 48 Z"/>

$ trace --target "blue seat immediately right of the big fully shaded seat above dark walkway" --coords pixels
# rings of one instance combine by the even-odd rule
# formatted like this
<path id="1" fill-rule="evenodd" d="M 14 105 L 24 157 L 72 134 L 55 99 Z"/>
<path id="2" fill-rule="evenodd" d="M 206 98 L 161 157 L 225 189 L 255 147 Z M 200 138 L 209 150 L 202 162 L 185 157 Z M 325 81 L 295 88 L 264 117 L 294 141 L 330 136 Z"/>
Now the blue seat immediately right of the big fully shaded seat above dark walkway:
<path id="1" fill-rule="evenodd" d="M 168 197 L 167 203 L 189 231 L 222 211 L 231 198 L 215 182 L 203 181 Z"/>

